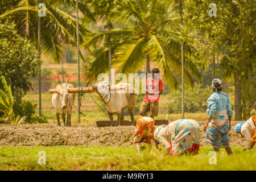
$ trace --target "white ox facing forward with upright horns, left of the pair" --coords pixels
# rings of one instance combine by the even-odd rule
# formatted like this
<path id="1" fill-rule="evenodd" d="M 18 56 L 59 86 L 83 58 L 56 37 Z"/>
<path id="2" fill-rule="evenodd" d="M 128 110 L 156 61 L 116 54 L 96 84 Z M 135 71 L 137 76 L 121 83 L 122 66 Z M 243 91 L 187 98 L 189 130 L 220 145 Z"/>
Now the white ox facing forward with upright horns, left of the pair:
<path id="1" fill-rule="evenodd" d="M 60 126 L 60 115 L 63 118 L 64 126 L 71 126 L 71 111 L 75 101 L 75 94 L 68 93 L 69 88 L 73 88 L 72 84 L 68 84 L 69 77 L 65 84 L 62 84 L 59 79 L 59 85 L 56 86 L 55 94 L 52 96 L 52 105 L 56 110 L 57 125 Z M 67 120 L 65 115 L 67 114 Z M 67 121 L 67 123 L 65 122 Z"/>

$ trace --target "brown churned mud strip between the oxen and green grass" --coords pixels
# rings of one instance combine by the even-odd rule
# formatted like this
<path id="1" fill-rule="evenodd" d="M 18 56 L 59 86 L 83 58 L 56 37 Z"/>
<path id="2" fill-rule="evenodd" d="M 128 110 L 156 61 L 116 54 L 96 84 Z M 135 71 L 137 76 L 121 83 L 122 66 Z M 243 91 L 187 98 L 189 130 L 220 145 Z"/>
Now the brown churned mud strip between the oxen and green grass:
<path id="1" fill-rule="evenodd" d="M 245 138 L 234 132 L 234 126 L 238 122 L 232 122 L 232 130 L 229 134 L 231 146 L 245 146 Z M 201 130 L 201 145 L 209 146 L 205 142 L 203 132 L 204 122 L 199 122 Z M 59 127 L 54 124 L 34 125 L 1 125 L 0 146 L 130 146 L 133 144 L 135 126 L 118 127 Z"/>

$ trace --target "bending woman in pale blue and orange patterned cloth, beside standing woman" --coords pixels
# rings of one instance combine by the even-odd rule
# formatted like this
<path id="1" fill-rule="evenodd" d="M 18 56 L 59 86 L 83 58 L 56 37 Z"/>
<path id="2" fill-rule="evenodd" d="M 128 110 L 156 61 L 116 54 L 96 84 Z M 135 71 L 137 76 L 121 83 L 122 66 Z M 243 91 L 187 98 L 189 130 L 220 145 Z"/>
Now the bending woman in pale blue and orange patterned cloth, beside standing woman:
<path id="1" fill-rule="evenodd" d="M 193 119 L 179 119 L 169 125 L 156 128 L 156 143 L 162 144 L 165 155 L 198 154 L 200 148 L 200 128 Z"/>

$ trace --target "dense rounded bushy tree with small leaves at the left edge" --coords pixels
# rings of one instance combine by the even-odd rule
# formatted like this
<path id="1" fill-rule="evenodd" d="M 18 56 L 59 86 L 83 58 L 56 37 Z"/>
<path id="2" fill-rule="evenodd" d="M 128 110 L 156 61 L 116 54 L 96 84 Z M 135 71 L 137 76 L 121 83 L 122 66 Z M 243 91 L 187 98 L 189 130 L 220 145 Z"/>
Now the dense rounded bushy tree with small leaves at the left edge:
<path id="1" fill-rule="evenodd" d="M 38 51 L 18 35 L 13 23 L 0 24 L 0 75 L 11 86 L 15 102 L 31 89 L 29 79 L 38 75 L 39 61 Z"/>

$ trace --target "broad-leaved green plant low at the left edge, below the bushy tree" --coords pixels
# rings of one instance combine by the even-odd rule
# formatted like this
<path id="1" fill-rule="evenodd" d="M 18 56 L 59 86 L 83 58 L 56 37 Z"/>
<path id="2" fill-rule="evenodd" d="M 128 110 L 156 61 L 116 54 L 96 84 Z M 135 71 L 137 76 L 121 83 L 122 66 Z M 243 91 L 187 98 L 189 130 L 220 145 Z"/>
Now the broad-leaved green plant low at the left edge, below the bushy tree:
<path id="1" fill-rule="evenodd" d="M 0 89 L 0 113 L 2 113 L 2 118 L 0 118 L 0 122 L 3 123 L 12 123 L 15 120 L 13 105 L 14 105 L 14 97 L 11 92 L 11 85 L 7 85 L 5 77 L 1 76 L 2 86 Z M 8 121 L 5 120 L 8 119 Z"/>

